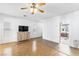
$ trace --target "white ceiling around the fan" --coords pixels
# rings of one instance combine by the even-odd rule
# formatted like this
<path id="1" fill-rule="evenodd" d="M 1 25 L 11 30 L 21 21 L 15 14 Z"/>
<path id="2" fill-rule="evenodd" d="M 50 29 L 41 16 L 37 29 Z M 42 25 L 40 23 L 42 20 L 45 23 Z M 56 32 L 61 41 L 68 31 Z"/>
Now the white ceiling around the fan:
<path id="1" fill-rule="evenodd" d="M 79 10 L 79 3 L 46 3 L 40 9 L 45 10 L 44 14 L 31 14 L 29 10 L 21 10 L 21 7 L 27 7 L 23 3 L 0 3 L 0 13 L 30 19 L 33 21 L 47 20 L 54 16 L 70 13 Z M 26 15 L 24 17 L 23 15 Z"/>

